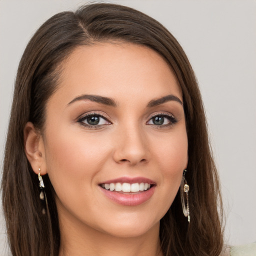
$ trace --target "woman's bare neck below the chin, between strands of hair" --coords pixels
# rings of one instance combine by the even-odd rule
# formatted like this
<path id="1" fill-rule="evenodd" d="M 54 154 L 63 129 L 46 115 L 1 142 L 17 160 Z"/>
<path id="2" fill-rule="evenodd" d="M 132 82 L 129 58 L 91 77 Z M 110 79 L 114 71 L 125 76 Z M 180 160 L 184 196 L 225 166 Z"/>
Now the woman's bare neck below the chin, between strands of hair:
<path id="1" fill-rule="evenodd" d="M 159 223 L 146 233 L 116 237 L 86 224 L 59 216 L 59 256 L 161 256 Z"/>

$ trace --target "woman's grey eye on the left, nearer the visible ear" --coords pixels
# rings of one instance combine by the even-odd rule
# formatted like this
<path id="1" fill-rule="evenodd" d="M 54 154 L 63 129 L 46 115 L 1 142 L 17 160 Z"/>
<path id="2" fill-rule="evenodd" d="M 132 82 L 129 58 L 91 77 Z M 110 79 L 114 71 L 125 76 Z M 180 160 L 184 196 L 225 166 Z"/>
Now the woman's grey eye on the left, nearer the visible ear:
<path id="1" fill-rule="evenodd" d="M 97 113 L 85 114 L 81 116 L 77 121 L 89 128 L 90 127 L 96 128 L 100 125 L 110 124 L 110 122 L 107 120 L 105 116 Z"/>

